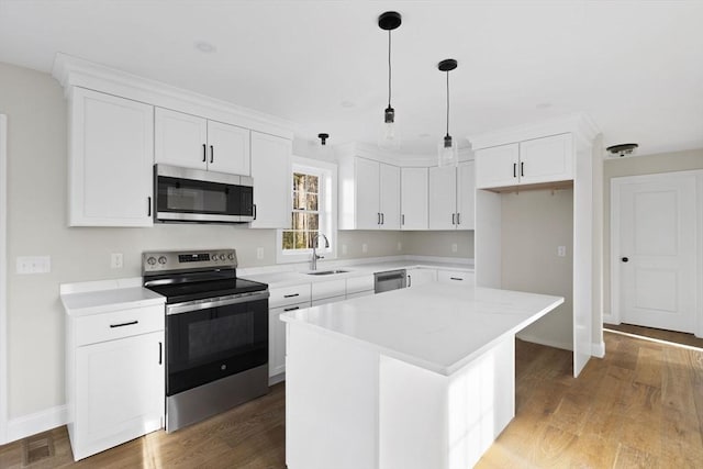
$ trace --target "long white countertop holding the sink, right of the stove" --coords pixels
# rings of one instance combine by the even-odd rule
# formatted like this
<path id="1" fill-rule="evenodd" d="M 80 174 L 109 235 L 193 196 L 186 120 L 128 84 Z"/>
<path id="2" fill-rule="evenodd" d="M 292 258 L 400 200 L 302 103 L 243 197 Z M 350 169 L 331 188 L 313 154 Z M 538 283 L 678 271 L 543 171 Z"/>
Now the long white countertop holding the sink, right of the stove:
<path id="1" fill-rule="evenodd" d="M 376 272 L 383 272 L 395 269 L 411 269 L 411 268 L 427 268 L 427 269 L 445 269 L 457 271 L 472 271 L 473 265 L 460 264 L 460 263 L 436 263 L 436 261 L 419 261 L 419 260 L 391 260 L 369 264 L 354 264 L 346 266 L 341 261 L 333 265 L 320 265 L 317 271 L 324 270 L 347 270 L 344 273 L 334 273 L 330 276 L 311 276 L 305 273 L 306 271 L 271 271 L 263 273 L 247 273 L 244 272 L 237 275 L 247 280 L 259 281 L 268 283 L 271 288 L 284 287 L 299 283 L 312 283 L 326 280 L 347 279 L 352 277 L 360 277 L 367 275 L 373 275 Z"/>

